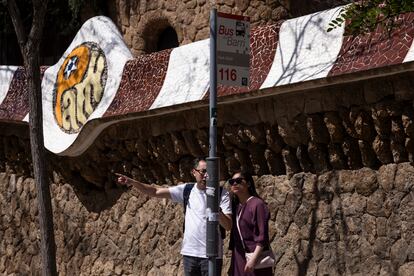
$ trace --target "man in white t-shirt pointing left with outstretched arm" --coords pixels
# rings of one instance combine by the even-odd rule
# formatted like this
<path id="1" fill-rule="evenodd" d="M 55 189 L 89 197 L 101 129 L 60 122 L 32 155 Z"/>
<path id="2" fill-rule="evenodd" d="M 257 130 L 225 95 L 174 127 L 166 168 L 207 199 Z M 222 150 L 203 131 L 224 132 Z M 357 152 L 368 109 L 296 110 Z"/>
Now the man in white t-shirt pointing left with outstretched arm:
<path id="1" fill-rule="evenodd" d="M 195 183 L 185 183 L 173 187 L 149 185 L 131 179 L 122 174 L 118 175 L 118 183 L 132 186 L 146 195 L 157 198 L 168 198 L 184 204 L 184 238 L 181 247 L 184 273 L 186 276 L 207 276 L 208 258 L 206 255 L 207 238 L 207 197 L 206 178 L 207 163 L 204 159 L 195 159 L 191 170 Z M 227 190 L 220 189 L 220 226 L 231 229 L 231 201 Z M 224 238 L 224 237 L 223 237 Z M 223 264 L 223 241 L 219 239 L 219 256 L 217 258 L 217 273 L 221 274 Z"/>

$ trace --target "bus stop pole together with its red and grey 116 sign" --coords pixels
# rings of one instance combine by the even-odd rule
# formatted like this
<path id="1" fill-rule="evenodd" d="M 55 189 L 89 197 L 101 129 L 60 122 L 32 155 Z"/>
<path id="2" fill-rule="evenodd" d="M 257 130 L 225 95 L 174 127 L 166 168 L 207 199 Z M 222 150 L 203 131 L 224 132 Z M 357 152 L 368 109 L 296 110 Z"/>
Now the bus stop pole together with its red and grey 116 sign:
<path id="1" fill-rule="evenodd" d="M 218 14 L 218 16 L 217 16 Z M 218 27 L 218 28 L 217 28 Z M 208 275 L 216 276 L 219 246 L 219 158 L 217 155 L 217 79 L 222 85 L 248 86 L 250 22 L 247 17 L 210 12 L 210 136 L 207 158 Z M 218 69 L 218 70 L 217 70 Z"/>

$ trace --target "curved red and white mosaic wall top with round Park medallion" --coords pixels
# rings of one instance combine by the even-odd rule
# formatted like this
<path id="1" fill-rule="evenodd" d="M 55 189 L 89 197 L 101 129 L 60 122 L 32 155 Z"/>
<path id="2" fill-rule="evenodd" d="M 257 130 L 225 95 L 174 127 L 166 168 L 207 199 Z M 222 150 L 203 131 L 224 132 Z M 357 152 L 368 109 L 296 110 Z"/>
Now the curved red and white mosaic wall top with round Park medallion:
<path id="1" fill-rule="evenodd" d="M 340 9 L 254 29 L 249 86 L 219 86 L 218 96 L 414 60 L 414 13 L 401 15 L 390 36 L 377 30 L 351 37 L 344 36 L 343 26 L 326 32 Z M 208 89 L 209 40 L 133 59 L 115 25 L 106 17 L 92 18 L 59 62 L 44 71 L 45 146 L 56 154 L 78 155 L 119 115 L 196 102 Z M 27 121 L 27 101 L 24 70 L 0 66 L 0 121 Z M 105 123 L 95 121 L 77 139 L 89 121 L 103 117 Z"/>

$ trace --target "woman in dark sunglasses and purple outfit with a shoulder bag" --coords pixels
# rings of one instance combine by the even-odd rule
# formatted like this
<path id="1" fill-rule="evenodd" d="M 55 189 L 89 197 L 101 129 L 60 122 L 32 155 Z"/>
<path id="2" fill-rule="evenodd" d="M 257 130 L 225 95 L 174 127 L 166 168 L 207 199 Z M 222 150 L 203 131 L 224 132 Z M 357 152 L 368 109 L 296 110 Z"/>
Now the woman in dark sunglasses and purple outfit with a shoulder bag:
<path id="1" fill-rule="evenodd" d="M 269 209 L 257 194 L 250 173 L 237 172 L 228 182 L 233 194 L 229 275 L 273 275 L 272 267 L 255 269 L 260 254 L 270 249 Z M 245 253 L 253 254 L 246 260 Z"/>

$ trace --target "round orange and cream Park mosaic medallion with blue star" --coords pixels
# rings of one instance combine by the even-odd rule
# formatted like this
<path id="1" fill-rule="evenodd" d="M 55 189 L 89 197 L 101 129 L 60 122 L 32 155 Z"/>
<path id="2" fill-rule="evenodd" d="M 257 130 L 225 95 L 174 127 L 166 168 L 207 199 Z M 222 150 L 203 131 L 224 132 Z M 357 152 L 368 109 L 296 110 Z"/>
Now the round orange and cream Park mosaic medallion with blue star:
<path id="1" fill-rule="evenodd" d="M 60 67 L 53 97 L 57 124 L 78 132 L 102 99 L 108 77 L 106 57 L 96 43 L 76 47 Z"/>

